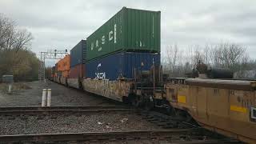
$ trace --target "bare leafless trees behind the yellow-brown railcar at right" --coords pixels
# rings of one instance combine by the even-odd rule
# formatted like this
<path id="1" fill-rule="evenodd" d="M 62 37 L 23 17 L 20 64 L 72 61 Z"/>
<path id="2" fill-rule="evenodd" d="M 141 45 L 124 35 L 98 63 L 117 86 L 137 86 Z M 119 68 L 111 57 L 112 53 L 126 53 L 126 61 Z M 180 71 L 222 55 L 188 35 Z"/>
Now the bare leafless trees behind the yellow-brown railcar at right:
<path id="1" fill-rule="evenodd" d="M 256 61 L 246 53 L 246 46 L 233 42 L 186 47 L 170 45 L 165 53 L 162 65 L 170 77 L 186 77 L 186 73 L 190 73 L 199 61 L 209 68 L 230 69 L 235 78 L 248 77 L 246 71 L 254 70 L 256 66 Z"/>

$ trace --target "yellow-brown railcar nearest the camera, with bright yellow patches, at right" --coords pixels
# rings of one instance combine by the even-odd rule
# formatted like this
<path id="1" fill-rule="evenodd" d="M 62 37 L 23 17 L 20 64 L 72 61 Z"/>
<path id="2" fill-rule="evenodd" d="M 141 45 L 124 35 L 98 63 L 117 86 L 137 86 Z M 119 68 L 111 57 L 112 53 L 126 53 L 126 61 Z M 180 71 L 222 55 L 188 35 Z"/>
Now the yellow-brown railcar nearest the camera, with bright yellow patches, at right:
<path id="1" fill-rule="evenodd" d="M 164 90 L 158 98 L 176 114 L 186 112 L 206 129 L 256 143 L 255 81 L 188 78 L 166 82 Z"/>

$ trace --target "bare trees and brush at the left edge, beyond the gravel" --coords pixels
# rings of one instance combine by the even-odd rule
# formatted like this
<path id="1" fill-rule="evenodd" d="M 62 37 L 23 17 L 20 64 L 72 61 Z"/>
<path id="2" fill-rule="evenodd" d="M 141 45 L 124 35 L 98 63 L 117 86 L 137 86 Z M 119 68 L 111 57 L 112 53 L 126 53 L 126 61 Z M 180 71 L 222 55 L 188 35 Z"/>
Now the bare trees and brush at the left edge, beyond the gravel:
<path id="1" fill-rule="evenodd" d="M 39 60 L 30 48 L 32 34 L 0 14 L 0 77 L 14 75 L 15 81 L 38 79 Z M 0 79 L 1 79 L 0 78 Z"/>

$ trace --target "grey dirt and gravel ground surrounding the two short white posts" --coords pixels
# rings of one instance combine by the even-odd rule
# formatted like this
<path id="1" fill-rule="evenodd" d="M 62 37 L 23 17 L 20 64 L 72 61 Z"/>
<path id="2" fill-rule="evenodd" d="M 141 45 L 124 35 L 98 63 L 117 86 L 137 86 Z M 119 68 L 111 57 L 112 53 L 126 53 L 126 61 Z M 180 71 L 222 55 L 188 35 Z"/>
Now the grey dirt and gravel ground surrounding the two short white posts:
<path id="1" fill-rule="evenodd" d="M 18 82 L 13 92 L 7 93 L 7 87 L 0 84 L 0 106 L 41 106 L 42 89 L 52 90 L 51 106 L 114 106 L 121 105 L 109 99 L 86 94 L 81 90 L 67 88 L 54 82 Z"/>

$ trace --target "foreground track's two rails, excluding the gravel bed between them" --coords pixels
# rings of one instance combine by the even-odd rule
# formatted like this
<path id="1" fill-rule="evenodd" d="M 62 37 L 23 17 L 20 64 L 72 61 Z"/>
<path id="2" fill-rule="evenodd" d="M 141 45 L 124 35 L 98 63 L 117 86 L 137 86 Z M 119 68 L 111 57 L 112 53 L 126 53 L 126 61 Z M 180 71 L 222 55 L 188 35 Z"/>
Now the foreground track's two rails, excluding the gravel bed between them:
<path id="1" fill-rule="evenodd" d="M 38 120 L 57 118 L 58 114 L 138 114 L 148 122 L 164 129 L 133 130 L 89 133 L 13 134 L 0 135 L 0 143 L 238 143 L 202 129 L 198 125 L 180 122 L 166 114 L 134 109 L 129 106 L 52 106 L 52 107 L 0 107 L 0 120 L 20 118 L 27 121 L 36 116 Z M 29 122 L 29 121 L 28 121 Z"/>

